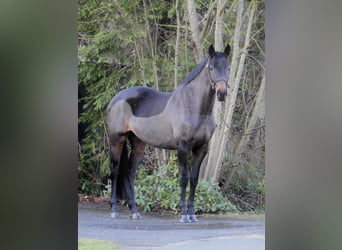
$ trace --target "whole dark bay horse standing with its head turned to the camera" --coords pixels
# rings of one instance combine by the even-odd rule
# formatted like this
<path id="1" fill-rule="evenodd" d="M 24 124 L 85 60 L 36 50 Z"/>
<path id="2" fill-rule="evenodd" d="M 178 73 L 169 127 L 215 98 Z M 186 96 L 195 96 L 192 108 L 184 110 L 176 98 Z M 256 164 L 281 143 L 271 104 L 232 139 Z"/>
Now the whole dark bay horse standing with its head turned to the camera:
<path id="1" fill-rule="evenodd" d="M 184 79 L 174 92 L 131 87 L 113 97 L 107 108 L 112 178 L 112 218 L 117 218 L 117 199 L 128 199 L 132 219 L 140 219 L 135 192 L 136 168 L 145 145 L 178 152 L 181 222 L 196 222 L 194 197 L 201 163 L 214 133 L 213 105 L 227 95 L 228 55 L 211 45 L 208 56 Z M 128 155 L 127 142 L 130 143 Z M 192 153 L 191 173 L 187 164 Z M 190 177 L 190 178 L 189 178 Z M 185 192 L 190 179 L 186 203 Z"/>

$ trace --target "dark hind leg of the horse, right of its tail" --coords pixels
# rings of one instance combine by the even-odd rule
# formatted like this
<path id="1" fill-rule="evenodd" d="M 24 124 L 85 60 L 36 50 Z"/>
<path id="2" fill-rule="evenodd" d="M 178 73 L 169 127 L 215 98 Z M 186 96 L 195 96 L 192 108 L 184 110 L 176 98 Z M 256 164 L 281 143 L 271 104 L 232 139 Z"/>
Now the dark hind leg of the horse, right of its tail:
<path id="1" fill-rule="evenodd" d="M 143 141 L 141 141 L 138 137 L 136 137 L 133 133 L 130 133 L 128 139 L 131 143 L 131 154 L 129 157 L 128 164 L 128 180 L 131 192 L 130 196 L 128 197 L 128 205 L 131 210 L 131 218 L 141 219 L 141 215 L 138 212 L 135 200 L 134 180 L 136 176 L 137 166 L 144 154 L 146 144 Z"/>

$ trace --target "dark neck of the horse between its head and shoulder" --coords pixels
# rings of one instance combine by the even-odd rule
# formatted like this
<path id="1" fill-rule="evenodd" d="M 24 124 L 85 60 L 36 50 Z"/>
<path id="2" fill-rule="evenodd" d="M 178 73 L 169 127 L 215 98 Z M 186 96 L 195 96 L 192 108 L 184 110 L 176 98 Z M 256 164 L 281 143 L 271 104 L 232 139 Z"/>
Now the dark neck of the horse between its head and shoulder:
<path id="1" fill-rule="evenodd" d="M 215 101 L 215 90 L 210 86 L 207 68 L 203 70 L 185 86 L 186 101 L 190 101 L 194 108 L 194 112 L 199 112 L 201 115 L 211 115 L 213 112 Z"/>

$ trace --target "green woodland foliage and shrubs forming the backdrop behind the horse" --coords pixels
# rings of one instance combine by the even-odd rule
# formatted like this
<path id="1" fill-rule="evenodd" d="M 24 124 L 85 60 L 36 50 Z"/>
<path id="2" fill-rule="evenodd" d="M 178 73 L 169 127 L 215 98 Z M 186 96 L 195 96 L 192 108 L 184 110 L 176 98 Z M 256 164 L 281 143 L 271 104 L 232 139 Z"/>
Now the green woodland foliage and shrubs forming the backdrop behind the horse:
<path id="1" fill-rule="evenodd" d="M 176 2 L 79 0 L 79 192 L 99 194 L 107 183 L 109 150 L 105 110 L 112 96 L 135 85 L 173 90 L 176 83 L 181 82 L 196 65 L 196 47 L 191 37 L 187 2 L 179 1 L 178 6 Z M 225 1 L 225 44 L 232 44 L 236 2 Z M 200 182 L 196 194 L 200 211 L 234 209 L 227 199 L 240 210 L 264 208 L 263 117 L 258 120 L 237 163 L 230 164 L 234 149 L 244 134 L 263 72 L 264 4 L 262 1 L 254 2 L 258 2 L 258 8 L 253 40 L 239 85 L 225 161 L 218 183 Z M 246 1 L 245 5 L 249 3 Z M 206 53 L 206 48 L 215 41 L 217 5 L 216 1 L 210 0 L 195 1 L 195 4 L 201 30 L 206 31 L 202 33 Z M 246 7 L 244 20 L 247 20 L 248 13 Z M 178 48 L 175 45 L 177 27 L 180 31 Z M 241 32 L 245 34 L 243 28 Z M 147 147 L 143 167 L 137 174 L 137 202 L 145 210 L 175 210 L 178 205 L 178 168 L 172 157 L 168 161 L 169 152 L 163 153 Z M 149 188 L 152 186 L 157 188 L 157 192 Z M 216 205 L 207 207 L 209 204 Z"/>

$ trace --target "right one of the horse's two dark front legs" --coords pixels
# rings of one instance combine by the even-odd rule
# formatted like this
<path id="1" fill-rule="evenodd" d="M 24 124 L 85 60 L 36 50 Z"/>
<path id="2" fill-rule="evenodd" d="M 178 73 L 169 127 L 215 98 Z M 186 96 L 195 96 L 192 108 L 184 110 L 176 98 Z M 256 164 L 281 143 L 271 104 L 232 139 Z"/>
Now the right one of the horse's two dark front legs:
<path id="1" fill-rule="evenodd" d="M 207 144 L 204 144 L 200 146 L 199 148 L 192 150 L 192 171 L 191 171 L 191 177 L 190 177 L 190 192 L 189 192 L 189 199 L 188 199 L 188 213 L 189 213 L 189 219 L 191 222 L 198 221 L 195 216 L 194 199 L 195 199 L 195 192 L 196 192 L 196 187 L 198 183 L 198 175 L 199 175 L 200 167 L 207 151 L 208 151 Z"/>

